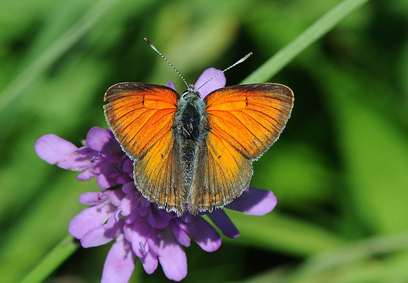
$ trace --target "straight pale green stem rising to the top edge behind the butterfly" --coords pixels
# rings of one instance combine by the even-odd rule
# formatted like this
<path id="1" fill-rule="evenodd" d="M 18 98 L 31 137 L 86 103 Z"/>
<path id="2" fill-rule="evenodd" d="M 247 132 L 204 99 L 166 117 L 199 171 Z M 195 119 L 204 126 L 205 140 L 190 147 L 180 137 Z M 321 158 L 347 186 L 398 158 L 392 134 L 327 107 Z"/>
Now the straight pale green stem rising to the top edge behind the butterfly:
<path id="1" fill-rule="evenodd" d="M 307 49 L 312 43 L 333 29 L 337 23 L 362 6 L 369 0 L 344 0 L 318 19 L 309 29 L 302 32 L 295 40 L 277 52 L 252 74 L 246 77 L 241 84 L 267 82 L 279 70 L 285 67 L 300 52 Z"/>

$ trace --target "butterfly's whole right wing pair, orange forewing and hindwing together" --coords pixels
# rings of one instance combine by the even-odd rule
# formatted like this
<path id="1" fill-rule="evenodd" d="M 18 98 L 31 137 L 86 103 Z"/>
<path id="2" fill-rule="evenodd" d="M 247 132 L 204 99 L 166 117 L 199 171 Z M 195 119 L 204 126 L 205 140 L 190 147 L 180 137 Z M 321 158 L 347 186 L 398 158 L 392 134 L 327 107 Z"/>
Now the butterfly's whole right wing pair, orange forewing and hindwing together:
<path id="1" fill-rule="evenodd" d="M 293 92 L 281 84 L 237 85 L 217 89 L 204 101 L 211 130 L 200 145 L 202 161 L 188 196 L 193 213 L 223 206 L 248 187 L 252 161 L 274 143 L 289 119 Z"/>

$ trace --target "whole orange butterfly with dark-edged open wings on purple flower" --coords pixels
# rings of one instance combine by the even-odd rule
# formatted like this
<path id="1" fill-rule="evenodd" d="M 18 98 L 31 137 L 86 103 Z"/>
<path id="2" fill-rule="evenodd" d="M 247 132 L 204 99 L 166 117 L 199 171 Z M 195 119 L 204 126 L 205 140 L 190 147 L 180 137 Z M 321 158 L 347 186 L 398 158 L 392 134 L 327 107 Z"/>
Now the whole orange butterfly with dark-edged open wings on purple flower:
<path id="1" fill-rule="evenodd" d="M 134 161 L 140 193 L 181 216 L 211 212 L 242 194 L 252 162 L 285 128 L 293 99 L 276 83 L 223 87 L 201 100 L 194 84 L 180 96 L 164 85 L 126 82 L 107 90 L 104 108 Z"/>

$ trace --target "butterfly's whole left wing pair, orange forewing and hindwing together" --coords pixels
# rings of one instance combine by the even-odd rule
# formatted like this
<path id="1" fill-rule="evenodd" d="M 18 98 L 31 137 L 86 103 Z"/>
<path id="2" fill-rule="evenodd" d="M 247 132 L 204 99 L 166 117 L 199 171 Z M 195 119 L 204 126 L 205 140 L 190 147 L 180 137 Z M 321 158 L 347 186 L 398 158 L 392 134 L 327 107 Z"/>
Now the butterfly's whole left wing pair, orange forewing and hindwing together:
<path id="1" fill-rule="evenodd" d="M 179 95 L 156 84 L 111 86 L 106 120 L 126 154 L 134 160 L 134 179 L 144 197 L 168 211 L 184 211 L 172 126 Z"/>

